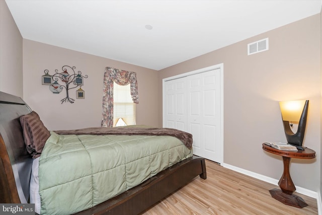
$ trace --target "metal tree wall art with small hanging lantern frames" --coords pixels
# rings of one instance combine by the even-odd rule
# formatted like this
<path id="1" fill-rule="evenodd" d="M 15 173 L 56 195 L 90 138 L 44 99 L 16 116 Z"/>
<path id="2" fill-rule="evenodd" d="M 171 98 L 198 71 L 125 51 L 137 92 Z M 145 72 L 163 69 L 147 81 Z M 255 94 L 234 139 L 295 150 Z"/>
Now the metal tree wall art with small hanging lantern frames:
<path id="1" fill-rule="evenodd" d="M 54 75 L 49 75 L 49 70 L 45 69 L 45 75 L 42 76 L 42 85 L 49 85 L 49 90 L 53 93 L 60 93 L 63 89 L 66 90 L 66 97 L 63 98 L 63 102 L 74 103 L 74 99 L 69 97 L 68 91 L 79 86 L 79 89 L 76 91 L 76 98 L 85 98 L 85 91 L 81 88 L 84 85 L 83 78 L 88 78 L 88 75 L 82 76 L 81 71 L 75 73 L 75 66 L 70 67 L 69 65 L 64 65 L 61 67 L 62 72 L 58 73 L 58 69 L 55 69 Z M 59 84 L 61 82 L 62 85 Z M 70 85 L 72 83 L 72 85 Z"/>

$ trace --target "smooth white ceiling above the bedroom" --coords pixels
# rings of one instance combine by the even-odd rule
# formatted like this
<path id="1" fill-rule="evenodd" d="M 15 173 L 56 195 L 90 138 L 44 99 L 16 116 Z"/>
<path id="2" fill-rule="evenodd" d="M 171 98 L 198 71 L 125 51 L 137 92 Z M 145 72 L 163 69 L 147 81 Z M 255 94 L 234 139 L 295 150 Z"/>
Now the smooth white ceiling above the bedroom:
<path id="1" fill-rule="evenodd" d="M 6 2 L 25 39 L 155 70 L 321 10 L 321 0 Z"/>

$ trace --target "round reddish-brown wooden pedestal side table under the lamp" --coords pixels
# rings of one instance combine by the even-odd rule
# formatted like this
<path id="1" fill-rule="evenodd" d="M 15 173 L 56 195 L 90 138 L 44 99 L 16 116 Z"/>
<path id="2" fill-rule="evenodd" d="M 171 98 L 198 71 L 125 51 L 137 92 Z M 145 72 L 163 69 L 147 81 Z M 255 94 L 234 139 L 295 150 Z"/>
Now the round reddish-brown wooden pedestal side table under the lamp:
<path id="1" fill-rule="evenodd" d="M 283 157 L 284 171 L 281 179 L 278 182 L 278 185 L 281 189 L 275 188 L 270 190 L 271 196 L 280 202 L 283 202 L 284 204 L 294 207 L 302 208 L 307 206 L 308 204 L 301 197 L 293 194 L 296 188 L 290 176 L 289 166 L 291 158 L 313 159 L 315 158 L 315 152 L 308 148 L 297 151 L 283 151 L 265 144 L 263 144 L 263 150 Z"/>

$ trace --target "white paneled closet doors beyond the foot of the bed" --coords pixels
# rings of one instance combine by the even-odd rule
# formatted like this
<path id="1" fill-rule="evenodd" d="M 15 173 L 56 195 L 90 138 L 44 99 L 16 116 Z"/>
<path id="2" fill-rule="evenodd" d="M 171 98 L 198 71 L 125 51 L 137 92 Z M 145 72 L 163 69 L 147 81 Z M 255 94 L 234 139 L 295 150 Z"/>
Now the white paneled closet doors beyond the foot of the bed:
<path id="1" fill-rule="evenodd" d="M 220 161 L 220 68 L 165 82 L 165 127 L 192 133 L 197 156 Z"/>

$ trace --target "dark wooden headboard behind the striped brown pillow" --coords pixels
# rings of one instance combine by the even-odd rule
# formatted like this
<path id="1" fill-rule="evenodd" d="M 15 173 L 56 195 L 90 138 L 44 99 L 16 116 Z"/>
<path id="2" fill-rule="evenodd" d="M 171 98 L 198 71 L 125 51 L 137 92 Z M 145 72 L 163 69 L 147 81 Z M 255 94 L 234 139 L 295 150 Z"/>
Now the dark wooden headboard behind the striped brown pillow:
<path id="1" fill-rule="evenodd" d="M 32 157 L 24 143 L 20 116 L 31 109 L 19 97 L 0 92 L 0 202 L 28 203 Z"/>

